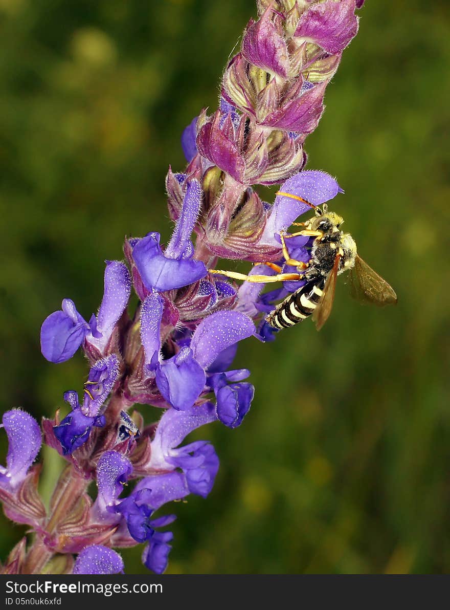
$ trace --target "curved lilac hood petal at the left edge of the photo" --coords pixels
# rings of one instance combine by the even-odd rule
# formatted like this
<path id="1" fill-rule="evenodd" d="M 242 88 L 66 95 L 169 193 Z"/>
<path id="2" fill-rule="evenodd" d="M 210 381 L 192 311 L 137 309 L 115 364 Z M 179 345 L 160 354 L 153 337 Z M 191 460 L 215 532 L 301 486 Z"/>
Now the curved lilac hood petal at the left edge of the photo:
<path id="1" fill-rule="evenodd" d="M 6 467 L 0 466 L 0 486 L 16 489 L 27 475 L 41 448 L 41 429 L 34 417 L 25 411 L 12 409 L 2 418 L 8 437 Z"/>

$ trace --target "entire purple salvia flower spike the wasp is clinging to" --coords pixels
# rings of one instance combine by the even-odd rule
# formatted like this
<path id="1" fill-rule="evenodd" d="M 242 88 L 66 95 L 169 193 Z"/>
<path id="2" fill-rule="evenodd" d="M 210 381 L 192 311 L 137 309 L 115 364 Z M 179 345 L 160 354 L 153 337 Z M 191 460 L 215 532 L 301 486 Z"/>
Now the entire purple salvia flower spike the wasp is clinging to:
<path id="1" fill-rule="evenodd" d="M 106 262 L 98 313 L 87 321 L 66 298 L 43 322 L 43 356 L 65 362 L 81 347 L 90 370 L 82 397 L 73 390 L 63 395 L 70 413 L 43 420 L 46 443 L 67 462 L 48 509 L 38 492 L 40 467 L 32 466 L 39 426 L 20 409 L 3 416 L 9 450 L 0 500 L 7 517 L 35 534 L 31 548 L 24 540 L 13 550 L 5 572 L 55 565 L 60 573 L 123 573 L 111 547 L 137 544 L 144 545 L 148 569 L 165 571 L 173 540 L 165 528 L 176 519 L 168 504 L 190 493 L 206 498 L 219 468 L 208 440 L 185 439 L 217 421 L 241 425 L 254 387 L 246 381 L 249 370 L 233 366 L 238 346 L 250 337 L 273 341 L 277 331 L 266 315 L 304 284 L 297 275 L 265 290 L 265 279 L 279 270 L 298 271 L 286 262 L 280 234 L 311 204 L 342 192 L 329 174 L 304 170 L 304 146 L 357 33 L 355 9 L 362 4 L 257 0 L 259 18 L 249 21 L 226 66 L 218 107 L 202 110 L 185 128 L 187 166 L 166 175 L 170 240 L 163 245 L 155 231 L 126 239 L 126 264 Z M 277 185 L 273 203 L 263 201 L 257 185 Z M 286 241 L 291 259 L 307 264 L 313 237 Z M 262 281 L 238 286 L 230 278 L 246 276 L 217 273 L 218 257 L 256 263 L 249 276 Z M 145 426 L 137 404 L 162 414 Z M 165 514 L 156 514 L 163 507 Z"/>

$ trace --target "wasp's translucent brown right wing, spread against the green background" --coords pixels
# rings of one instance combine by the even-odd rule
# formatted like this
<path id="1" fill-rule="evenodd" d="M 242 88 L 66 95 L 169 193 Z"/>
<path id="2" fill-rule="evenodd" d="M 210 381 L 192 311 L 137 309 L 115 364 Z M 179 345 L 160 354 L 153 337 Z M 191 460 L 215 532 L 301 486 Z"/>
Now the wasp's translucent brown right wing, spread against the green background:
<path id="1" fill-rule="evenodd" d="M 350 271 L 350 282 L 351 295 L 360 303 L 380 307 L 397 303 L 395 290 L 358 255 Z"/>

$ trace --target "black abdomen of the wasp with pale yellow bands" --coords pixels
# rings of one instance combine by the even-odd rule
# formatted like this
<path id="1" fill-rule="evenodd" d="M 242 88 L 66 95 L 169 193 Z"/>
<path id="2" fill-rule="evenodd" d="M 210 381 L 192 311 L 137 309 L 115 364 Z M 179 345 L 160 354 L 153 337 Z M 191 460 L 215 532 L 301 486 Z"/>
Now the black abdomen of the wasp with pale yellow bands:
<path id="1" fill-rule="evenodd" d="M 268 323 L 274 328 L 282 329 L 295 326 L 302 320 L 309 318 L 317 307 L 321 296 L 325 278 L 314 279 L 287 296 L 266 317 Z"/>

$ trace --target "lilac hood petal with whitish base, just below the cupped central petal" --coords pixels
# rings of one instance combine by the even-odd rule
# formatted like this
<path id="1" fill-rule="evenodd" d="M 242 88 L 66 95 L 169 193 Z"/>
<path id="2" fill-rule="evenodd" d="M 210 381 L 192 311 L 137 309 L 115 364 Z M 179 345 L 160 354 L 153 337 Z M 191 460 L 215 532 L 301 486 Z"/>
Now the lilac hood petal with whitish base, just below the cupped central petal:
<path id="1" fill-rule="evenodd" d="M 215 422 L 217 414 L 211 403 L 191 407 L 185 411 L 168 409 L 159 421 L 152 440 L 151 466 L 163 468 L 171 450 L 182 442 L 187 435 L 207 423 Z"/>

